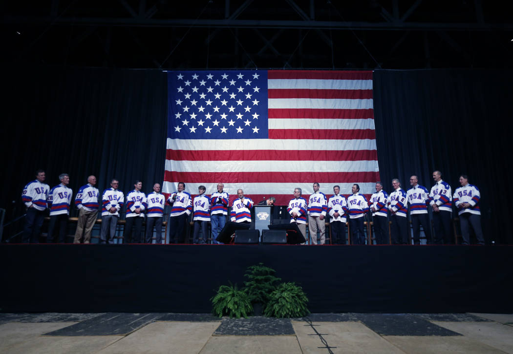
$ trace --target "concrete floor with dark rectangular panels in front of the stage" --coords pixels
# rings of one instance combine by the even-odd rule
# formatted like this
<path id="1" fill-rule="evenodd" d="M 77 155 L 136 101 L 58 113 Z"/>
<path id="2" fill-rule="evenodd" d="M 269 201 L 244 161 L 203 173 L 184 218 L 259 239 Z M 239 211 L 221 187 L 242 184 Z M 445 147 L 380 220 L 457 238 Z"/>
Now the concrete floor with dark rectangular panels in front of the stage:
<path id="1" fill-rule="evenodd" d="M 273 333 L 274 335 L 262 335 Z M 513 353 L 513 314 L 0 314 L 1 353 Z"/>

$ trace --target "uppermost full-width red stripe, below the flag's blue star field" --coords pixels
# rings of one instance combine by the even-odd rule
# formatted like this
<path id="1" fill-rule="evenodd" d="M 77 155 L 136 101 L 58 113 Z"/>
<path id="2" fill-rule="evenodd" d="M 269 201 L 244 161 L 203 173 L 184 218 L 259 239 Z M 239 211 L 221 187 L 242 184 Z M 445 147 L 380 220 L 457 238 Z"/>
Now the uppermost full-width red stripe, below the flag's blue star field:
<path id="1" fill-rule="evenodd" d="M 376 161 L 376 150 L 304 150 L 296 151 L 296 161 Z M 175 161 L 282 161 L 290 150 L 171 150 L 166 160 Z"/>

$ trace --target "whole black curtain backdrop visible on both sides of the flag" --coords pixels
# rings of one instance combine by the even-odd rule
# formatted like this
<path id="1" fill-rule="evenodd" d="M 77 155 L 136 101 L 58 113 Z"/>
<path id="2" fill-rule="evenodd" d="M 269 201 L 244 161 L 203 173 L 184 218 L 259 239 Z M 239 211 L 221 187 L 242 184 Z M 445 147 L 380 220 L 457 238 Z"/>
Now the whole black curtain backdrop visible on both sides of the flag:
<path id="1" fill-rule="evenodd" d="M 70 174 L 76 192 L 96 175 L 120 189 L 143 181 L 148 193 L 164 176 L 166 75 L 154 70 L 84 68 L 3 69 L 4 183 L 0 207 L 6 220 L 24 212 L 23 186 L 38 168 L 50 187 Z M 432 185 L 439 169 L 453 188 L 459 173 L 481 191 L 488 242 L 513 243 L 506 199 L 513 71 L 416 70 L 374 72 L 378 160 L 385 190 L 409 176 Z M 186 181 L 185 181 L 186 182 Z M 14 201 L 14 203 L 12 203 Z M 73 210 L 74 214 L 76 213 Z"/>

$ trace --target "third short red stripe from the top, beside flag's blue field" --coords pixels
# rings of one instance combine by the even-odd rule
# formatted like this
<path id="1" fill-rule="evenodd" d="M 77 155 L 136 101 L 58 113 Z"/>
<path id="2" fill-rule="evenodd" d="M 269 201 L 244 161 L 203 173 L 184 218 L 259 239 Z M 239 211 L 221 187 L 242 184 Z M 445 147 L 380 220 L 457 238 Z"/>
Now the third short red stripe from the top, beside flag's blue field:
<path id="1" fill-rule="evenodd" d="M 299 118 L 299 119 L 373 119 L 373 109 L 299 109 L 271 108 L 268 110 L 269 119 Z"/>

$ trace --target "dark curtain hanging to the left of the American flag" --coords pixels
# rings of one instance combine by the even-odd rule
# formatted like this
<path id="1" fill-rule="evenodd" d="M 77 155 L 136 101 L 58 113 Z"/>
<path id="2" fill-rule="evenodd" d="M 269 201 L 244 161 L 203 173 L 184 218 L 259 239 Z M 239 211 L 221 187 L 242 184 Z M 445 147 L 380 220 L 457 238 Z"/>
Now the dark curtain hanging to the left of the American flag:
<path id="1" fill-rule="evenodd" d="M 4 69 L 2 79 L 8 144 L 0 207 L 8 209 L 8 219 L 11 201 L 15 214 L 23 212 L 23 186 L 38 168 L 46 170 L 50 188 L 60 173 L 69 173 L 73 198 L 90 174 L 100 192 L 112 178 L 124 192 L 136 179 L 146 193 L 162 183 L 167 139 L 162 71 Z"/>

